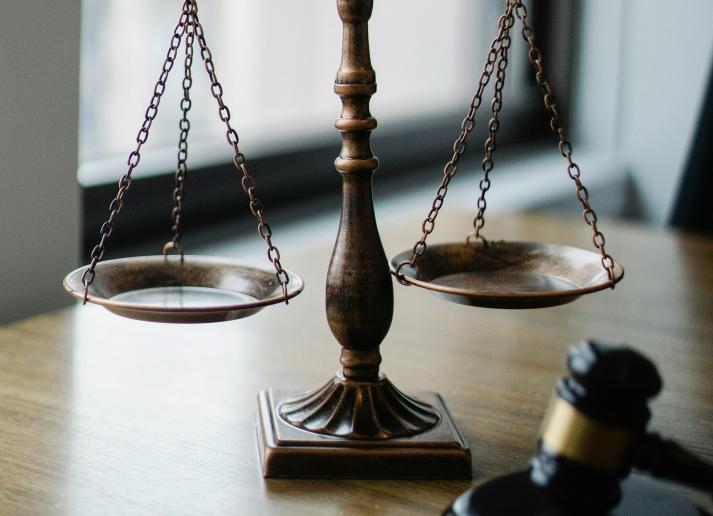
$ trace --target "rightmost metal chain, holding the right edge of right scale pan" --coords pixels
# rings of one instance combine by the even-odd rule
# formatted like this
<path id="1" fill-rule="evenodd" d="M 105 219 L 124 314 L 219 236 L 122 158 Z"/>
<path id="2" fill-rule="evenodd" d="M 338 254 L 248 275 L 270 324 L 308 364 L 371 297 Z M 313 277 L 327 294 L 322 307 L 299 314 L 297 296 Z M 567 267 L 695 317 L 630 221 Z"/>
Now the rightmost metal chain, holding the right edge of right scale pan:
<path id="1" fill-rule="evenodd" d="M 557 107 L 557 101 L 555 100 L 554 94 L 552 93 L 552 85 L 545 75 L 544 68 L 542 66 L 542 53 L 535 44 L 535 32 L 532 27 L 527 23 L 527 8 L 522 3 L 522 0 L 514 0 L 515 2 L 515 14 L 517 18 L 522 22 L 522 36 L 527 41 L 530 48 L 528 52 L 528 59 L 535 69 L 535 80 L 538 86 L 542 90 L 544 95 L 544 103 L 547 110 L 550 112 L 550 129 L 559 139 L 559 151 L 562 157 L 567 160 L 567 173 L 569 177 L 572 178 L 574 184 L 577 188 L 577 199 L 582 203 L 582 216 L 587 225 L 592 229 L 592 243 L 594 247 L 599 250 L 601 254 L 602 267 L 609 276 L 610 287 L 614 288 L 615 277 L 614 277 L 614 259 L 607 254 L 604 249 L 605 239 L 604 234 L 597 228 L 597 214 L 594 212 L 589 204 L 589 193 L 587 189 L 582 184 L 580 180 L 580 170 L 579 165 L 572 160 L 572 144 L 567 140 L 567 135 L 564 127 L 560 123 L 560 112 Z"/>

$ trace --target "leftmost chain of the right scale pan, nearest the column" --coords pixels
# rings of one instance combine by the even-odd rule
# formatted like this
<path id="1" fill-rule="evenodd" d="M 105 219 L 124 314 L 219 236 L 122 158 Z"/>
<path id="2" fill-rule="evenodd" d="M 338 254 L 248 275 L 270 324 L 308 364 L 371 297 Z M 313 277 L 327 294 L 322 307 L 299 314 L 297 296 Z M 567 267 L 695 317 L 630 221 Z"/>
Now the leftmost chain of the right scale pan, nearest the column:
<path id="1" fill-rule="evenodd" d="M 470 102 L 470 108 L 460 124 L 460 134 L 453 143 L 453 156 L 443 168 L 443 179 L 441 180 L 440 186 L 436 190 L 436 197 L 431 205 L 431 210 L 428 212 L 428 215 L 421 224 L 421 238 L 413 246 L 413 255 L 411 256 L 411 259 L 401 262 L 396 268 L 396 279 L 402 285 L 409 285 L 410 283 L 408 283 L 403 274 L 401 274 L 401 269 L 407 265 L 409 267 L 414 267 L 416 260 L 418 260 L 426 252 L 426 239 L 436 227 L 436 217 L 438 217 L 438 212 L 443 207 L 444 199 L 448 193 L 448 185 L 458 172 L 458 161 L 466 151 L 466 142 L 468 140 L 468 136 L 475 127 L 475 116 L 482 103 L 483 91 L 490 82 L 490 77 L 495 71 L 495 62 L 501 50 L 502 40 L 509 30 L 507 19 L 512 17 L 513 8 L 514 4 L 510 3 L 508 0 L 505 14 L 503 14 L 498 20 L 498 34 L 491 42 L 485 65 L 480 73 L 478 86 Z M 512 24 L 510 24 L 510 27 L 512 27 Z"/>

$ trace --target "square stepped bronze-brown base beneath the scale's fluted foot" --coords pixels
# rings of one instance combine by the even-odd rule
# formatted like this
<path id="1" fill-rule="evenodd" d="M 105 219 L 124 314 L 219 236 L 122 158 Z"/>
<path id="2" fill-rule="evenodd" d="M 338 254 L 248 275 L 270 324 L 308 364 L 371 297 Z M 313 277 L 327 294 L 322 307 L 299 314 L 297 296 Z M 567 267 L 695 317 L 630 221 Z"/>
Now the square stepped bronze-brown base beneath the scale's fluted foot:
<path id="1" fill-rule="evenodd" d="M 435 407 L 440 422 L 422 434 L 381 441 L 316 434 L 282 420 L 275 410 L 298 392 L 260 391 L 257 441 L 262 475 L 268 478 L 472 477 L 470 450 L 440 395 L 417 393 Z"/>

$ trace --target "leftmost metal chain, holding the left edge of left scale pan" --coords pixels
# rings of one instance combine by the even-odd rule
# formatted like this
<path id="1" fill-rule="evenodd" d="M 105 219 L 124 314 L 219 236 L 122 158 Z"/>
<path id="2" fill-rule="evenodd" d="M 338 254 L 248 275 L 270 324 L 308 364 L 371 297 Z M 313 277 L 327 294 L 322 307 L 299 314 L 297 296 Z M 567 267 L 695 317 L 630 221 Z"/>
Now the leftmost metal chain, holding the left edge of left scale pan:
<path id="1" fill-rule="evenodd" d="M 183 2 L 183 8 L 181 10 L 181 16 L 178 19 L 178 23 L 173 30 L 173 36 L 171 36 L 171 43 L 166 53 L 166 59 L 163 62 L 163 67 L 161 69 L 161 74 L 159 75 L 158 81 L 154 86 L 153 95 L 151 96 L 151 101 L 149 102 L 148 108 L 144 113 L 144 121 L 141 124 L 138 134 L 136 135 L 136 148 L 131 151 L 129 158 L 126 161 L 127 171 L 119 180 L 119 189 L 116 193 L 116 197 L 109 204 L 109 218 L 104 224 L 102 224 L 99 229 L 100 240 L 99 243 L 94 246 L 92 252 L 89 255 L 90 262 L 87 265 L 84 273 L 82 274 L 82 283 L 84 284 L 84 304 L 87 302 L 87 297 L 89 295 L 89 285 L 94 281 L 95 272 L 94 269 L 97 263 L 101 261 L 104 257 L 104 252 L 106 250 L 106 242 L 111 236 L 114 230 L 114 222 L 116 217 L 119 215 L 122 207 L 124 206 L 124 196 L 126 192 L 131 187 L 131 173 L 139 165 L 141 160 L 141 147 L 149 138 L 149 130 L 151 129 L 151 124 L 153 124 L 156 115 L 158 114 L 158 106 L 161 102 L 161 96 L 166 90 L 166 80 L 168 75 L 173 68 L 173 63 L 176 60 L 176 55 L 178 53 L 178 47 L 183 39 L 183 34 L 186 30 L 186 24 L 190 17 L 191 11 L 194 8 L 194 4 L 191 0 L 186 0 Z"/>

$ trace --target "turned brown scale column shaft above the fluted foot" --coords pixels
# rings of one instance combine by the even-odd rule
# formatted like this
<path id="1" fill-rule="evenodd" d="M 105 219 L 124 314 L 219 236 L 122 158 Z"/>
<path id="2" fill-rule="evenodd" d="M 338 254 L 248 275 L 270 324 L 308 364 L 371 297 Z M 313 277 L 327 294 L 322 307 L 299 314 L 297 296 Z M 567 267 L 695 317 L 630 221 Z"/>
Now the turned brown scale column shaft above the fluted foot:
<path id="1" fill-rule="evenodd" d="M 344 23 L 342 62 L 334 83 L 342 100 L 342 115 L 335 124 L 342 150 L 334 166 L 342 175 L 343 204 L 327 272 L 327 320 L 343 346 L 343 375 L 375 380 L 379 344 L 391 326 L 394 292 L 372 203 L 371 180 L 379 166 L 370 145 L 376 128 L 369 112 L 376 92 L 367 25 L 373 2 L 340 0 L 337 5 Z"/>

